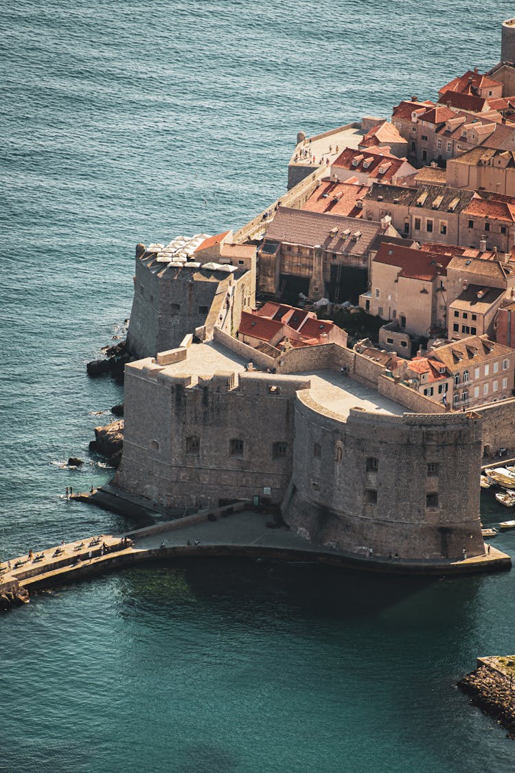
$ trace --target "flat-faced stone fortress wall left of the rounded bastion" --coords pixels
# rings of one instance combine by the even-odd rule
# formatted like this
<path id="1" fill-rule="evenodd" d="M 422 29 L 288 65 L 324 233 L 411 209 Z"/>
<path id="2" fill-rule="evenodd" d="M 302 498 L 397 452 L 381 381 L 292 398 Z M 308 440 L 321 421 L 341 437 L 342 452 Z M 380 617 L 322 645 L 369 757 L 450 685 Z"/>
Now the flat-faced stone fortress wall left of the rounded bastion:
<path id="1" fill-rule="evenodd" d="M 263 496 L 265 487 L 270 501 L 280 502 L 291 477 L 294 387 L 269 393 L 266 380 L 255 377 L 228 389 L 231 378 L 204 377 L 188 388 L 181 377 L 127 366 L 127 431 L 114 485 L 164 506 L 212 507 L 219 499 Z M 235 439 L 241 453 L 232 448 Z"/>

